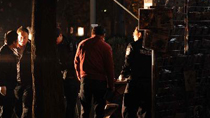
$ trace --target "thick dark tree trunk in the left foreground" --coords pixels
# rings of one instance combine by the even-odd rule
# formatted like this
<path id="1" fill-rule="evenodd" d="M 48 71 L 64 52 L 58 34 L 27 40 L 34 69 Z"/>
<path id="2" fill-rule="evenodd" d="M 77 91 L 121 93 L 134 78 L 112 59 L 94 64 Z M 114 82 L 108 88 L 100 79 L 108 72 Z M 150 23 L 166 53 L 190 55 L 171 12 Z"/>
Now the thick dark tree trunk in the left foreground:
<path id="1" fill-rule="evenodd" d="M 33 118 L 63 118 L 63 81 L 56 58 L 56 2 L 33 0 Z"/>

